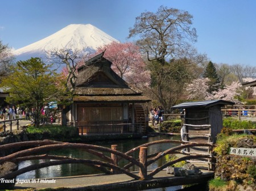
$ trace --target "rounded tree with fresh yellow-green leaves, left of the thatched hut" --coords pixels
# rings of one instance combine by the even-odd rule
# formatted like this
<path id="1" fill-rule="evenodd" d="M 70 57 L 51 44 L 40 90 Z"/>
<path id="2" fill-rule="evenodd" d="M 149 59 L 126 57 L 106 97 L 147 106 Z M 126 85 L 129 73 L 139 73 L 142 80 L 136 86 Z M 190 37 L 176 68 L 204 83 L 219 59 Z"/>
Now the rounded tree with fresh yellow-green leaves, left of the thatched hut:
<path id="1" fill-rule="evenodd" d="M 11 74 L 4 78 L 1 87 L 9 92 L 9 103 L 19 103 L 35 109 L 35 125 L 39 126 L 40 109 L 45 103 L 56 101 L 62 93 L 61 78 L 40 58 L 18 61 Z M 59 89 L 57 88 L 59 87 Z"/>

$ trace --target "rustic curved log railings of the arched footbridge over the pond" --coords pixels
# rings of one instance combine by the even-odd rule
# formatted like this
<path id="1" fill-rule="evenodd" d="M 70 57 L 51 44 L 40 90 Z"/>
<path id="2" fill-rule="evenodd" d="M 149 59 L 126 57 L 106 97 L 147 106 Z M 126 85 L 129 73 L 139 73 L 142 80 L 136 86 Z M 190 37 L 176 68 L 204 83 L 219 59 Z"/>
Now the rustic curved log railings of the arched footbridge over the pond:
<path id="1" fill-rule="evenodd" d="M 163 152 L 156 152 L 155 154 L 147 155 L 147 147 L 156 144 L 162 143 L 182 143 L 182 145 L 169 148 Z M 167 162 L 166 164 L 161 165 L 160 167 L 156 167 L 152 171 L 147 171 L 148 165 L 156 162 L 157 160 L 163 158 L 167 154 L 180 154 L 180 150 L 183 148 L 195 147 L 195 146 L 207 146 L 213 147 L 211 143 L 185 143 L 181 141 L 175 140 L 161 140 L 154 141 L 143 144 L 141 146 L 135 147 L 130 151 L 125 153 L 117 150 L 117 145 L 112 145 L 112 148 L 96 146 L 96 145 L 88 145 L 84 143 L 68 143 L 68 142 L 56 142 L 51 140 L 44 141 L 28 141 L 28 142 L 18 142 L 18 143 L 10 143 L 7 145 L 1 145 L 0 150 L 10 150 L 10 148 L 19 148 L 19 151 L 14 152 L 12 154 L 3 156 L 0 158 L 0 164 L 6 162 L 18 163 L 26 160 L 35 160 L 35 159 L 52 159 L 48 162 L 42 162 L 39 164 L 32 164 L 27 167 L 18 169 L 13 172 L 8 172 L 3 175 L 0 175 L 0 179 L 15 179 L 16 176 L 21 175 L 23 173 L 49 167 L 52 165 L 60 165 L 60 164 L 71 164 L 71 163 L 82 163 L 85 165 L 90 165 L 92 167 L 98 168 L 106 174 L 115 174 L 115 173 L 125 173 L 126 175 L 132 177 L 135 180 L 151 180 L 154 179 L 154 175 L 158 172 L 162 171 L 164 168 L 175 164 L 177 162 L 183 160 L 191 160 L 198 158 L 209 159 L 212 156 L 209 155 L 185 155 L 181 158 L 175 159 L 171 162 Z M 25 149 L 24 149 L 25 148 Z M 99 160 L 90 160 L 90 159 L 79 159 L 79 158 L 71 158 L 67 156 L 57 156 L 57 155 L 48 155 L 42 154 L 46 153 L 48 150 L 57 150 L 60 148 L 82 148 L 83 151 L 89 152 L 90 154 L 98 156 Z M 131 156 L 134 151 L 139 150 L 139 158 L 134 158 Z M 37 155 L 40 153 L 40 155 Z M 104 153 L 108 153 L 105 155 Z M 108 156 L 111 154 L 111 157 Z M 119 166 L 118 162 L 121 159 L 125 159 L 129 162 L 124 166 Z M 139 168 L 139 173 L 133 173 L 129 171 L 129 168 L 133 165 L 137 165 Z"/>

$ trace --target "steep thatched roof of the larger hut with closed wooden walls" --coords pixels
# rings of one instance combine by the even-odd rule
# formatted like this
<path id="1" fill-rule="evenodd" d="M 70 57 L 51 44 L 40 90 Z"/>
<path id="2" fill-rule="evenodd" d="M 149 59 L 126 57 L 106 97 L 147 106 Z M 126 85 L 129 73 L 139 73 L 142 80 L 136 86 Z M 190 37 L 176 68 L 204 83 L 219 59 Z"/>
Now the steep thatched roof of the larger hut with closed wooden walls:
<path id="1" fill-rule="evenodd" d="M 150 101 L 138 88 L 126 83 L 112 69 L 104 53 L 79 67 L 74 101 Z"/>

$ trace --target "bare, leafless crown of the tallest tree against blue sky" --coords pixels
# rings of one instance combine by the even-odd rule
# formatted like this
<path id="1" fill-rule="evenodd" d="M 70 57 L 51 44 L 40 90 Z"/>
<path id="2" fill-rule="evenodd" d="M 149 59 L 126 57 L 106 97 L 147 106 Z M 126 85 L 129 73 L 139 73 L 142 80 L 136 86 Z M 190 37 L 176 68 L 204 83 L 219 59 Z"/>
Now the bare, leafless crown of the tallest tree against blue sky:
<path id="1" fill-rule="evenodd" d="M 137 43 L 147 53 L 148 61 L 164 63 L 167 57 L 177 57 L 187 49 L 188 41 L 197 40 L 196 29 L 191 28 L 192 19 L 187 11 L 160 6 L 156 13 L 142 12 L 130 28 L 129 37 L 140 36 Z"/>

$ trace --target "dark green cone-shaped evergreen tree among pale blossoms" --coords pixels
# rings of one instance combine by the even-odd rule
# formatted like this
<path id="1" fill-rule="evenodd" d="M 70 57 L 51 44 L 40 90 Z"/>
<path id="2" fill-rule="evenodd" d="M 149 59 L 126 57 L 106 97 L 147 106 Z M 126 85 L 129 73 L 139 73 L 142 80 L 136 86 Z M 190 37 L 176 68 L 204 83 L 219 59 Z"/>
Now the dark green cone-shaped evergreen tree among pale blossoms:
<path id="1" fill-rule="evenodd" d="M 221 86 L 220 78 L 217 75 L 216 67 L 213 65 L 211 61 L 208 63 L 207 67 L 205 68 L 203 77 L 209 78 L 209 82 L 207 85 L 209 86 L 208 92 L 210 94 L 220 89 L 220 86 Z"/>

